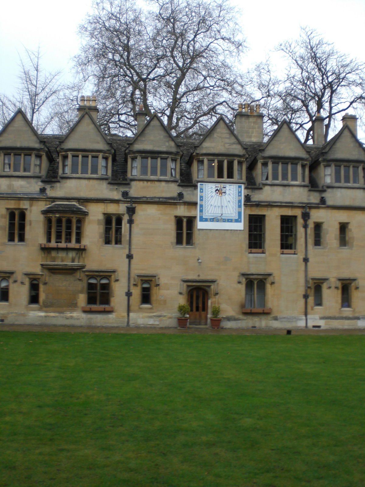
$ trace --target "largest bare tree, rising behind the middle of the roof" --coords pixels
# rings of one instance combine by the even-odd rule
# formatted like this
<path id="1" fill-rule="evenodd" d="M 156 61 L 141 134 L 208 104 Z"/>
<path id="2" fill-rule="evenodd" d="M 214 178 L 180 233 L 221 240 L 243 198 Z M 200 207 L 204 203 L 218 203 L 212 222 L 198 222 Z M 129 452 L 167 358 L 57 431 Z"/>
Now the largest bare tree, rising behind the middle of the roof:
<path id="1" fill-rule="evenodd" d="M 140 103 L 177 135 L 205 130 L 212 115 L 231 114 L 243 78 L 237 11 L 225 0 L 100 0 L 80 25 L 76 70 L 95 87 L 100 123 L 133 133 Z M 237 101 L 236 100 L 236 101 Z M 237 103 L 235 103 L 237 107 Z"/>

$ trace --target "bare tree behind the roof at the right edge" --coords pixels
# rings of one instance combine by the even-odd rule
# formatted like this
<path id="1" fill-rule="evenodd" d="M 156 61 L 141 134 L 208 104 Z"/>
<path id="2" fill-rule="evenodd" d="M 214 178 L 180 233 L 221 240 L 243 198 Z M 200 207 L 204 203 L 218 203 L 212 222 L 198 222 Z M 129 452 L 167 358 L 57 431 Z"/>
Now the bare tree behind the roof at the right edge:
<path id="1" fill-rule="evenodd" d="M 276 80 L 268 95 L 272 124 L 287 118 L 306 143 L 312 140 L 314 118 L 320 112 L 327 141 L 340 114 L 351 108 L 363 112 L 364 63 L 340 53 L 308 27 L 302 28 L 299 39 L 283 42 L 277 49 L 288 65 L 286 77 Z"/>

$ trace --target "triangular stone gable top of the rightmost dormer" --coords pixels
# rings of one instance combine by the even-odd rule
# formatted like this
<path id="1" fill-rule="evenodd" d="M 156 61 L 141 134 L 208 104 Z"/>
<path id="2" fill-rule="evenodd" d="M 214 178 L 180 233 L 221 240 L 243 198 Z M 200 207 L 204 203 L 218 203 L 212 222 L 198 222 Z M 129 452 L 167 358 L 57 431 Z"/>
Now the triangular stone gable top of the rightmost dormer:
<path id="1" fill-rule="evenodd" d="M 324 159 L 350 159 L 354 161 L 365 160 L 365 151 L 348 125 L 342 127 L 342 129 L 331 140 L 329 140 L 325 146 L 325 150 L 326 154 L 324 155 Z"/>

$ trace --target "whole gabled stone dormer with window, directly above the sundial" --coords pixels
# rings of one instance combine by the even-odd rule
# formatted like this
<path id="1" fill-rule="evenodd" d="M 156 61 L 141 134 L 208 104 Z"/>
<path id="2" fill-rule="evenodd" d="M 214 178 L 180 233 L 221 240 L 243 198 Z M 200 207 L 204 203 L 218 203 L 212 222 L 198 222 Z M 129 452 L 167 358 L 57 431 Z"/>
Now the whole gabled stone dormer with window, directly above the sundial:
<path id="1" fill-rule="evenodd" d="M 196 146 L 193 179 L 245 179 L 246 150 L 222 116 L 215 121 Z"/>

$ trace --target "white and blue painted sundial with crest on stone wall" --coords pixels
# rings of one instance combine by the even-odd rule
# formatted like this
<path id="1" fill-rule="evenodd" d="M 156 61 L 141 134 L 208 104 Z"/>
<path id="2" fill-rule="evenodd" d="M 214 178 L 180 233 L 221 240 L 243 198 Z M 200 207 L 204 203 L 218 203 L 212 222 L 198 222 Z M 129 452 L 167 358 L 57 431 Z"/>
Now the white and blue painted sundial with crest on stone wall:
<path id="1" fill-rule="evenodd" d="M 199 183 L 198 228 L 243 229 L 242 185 Z"/>

